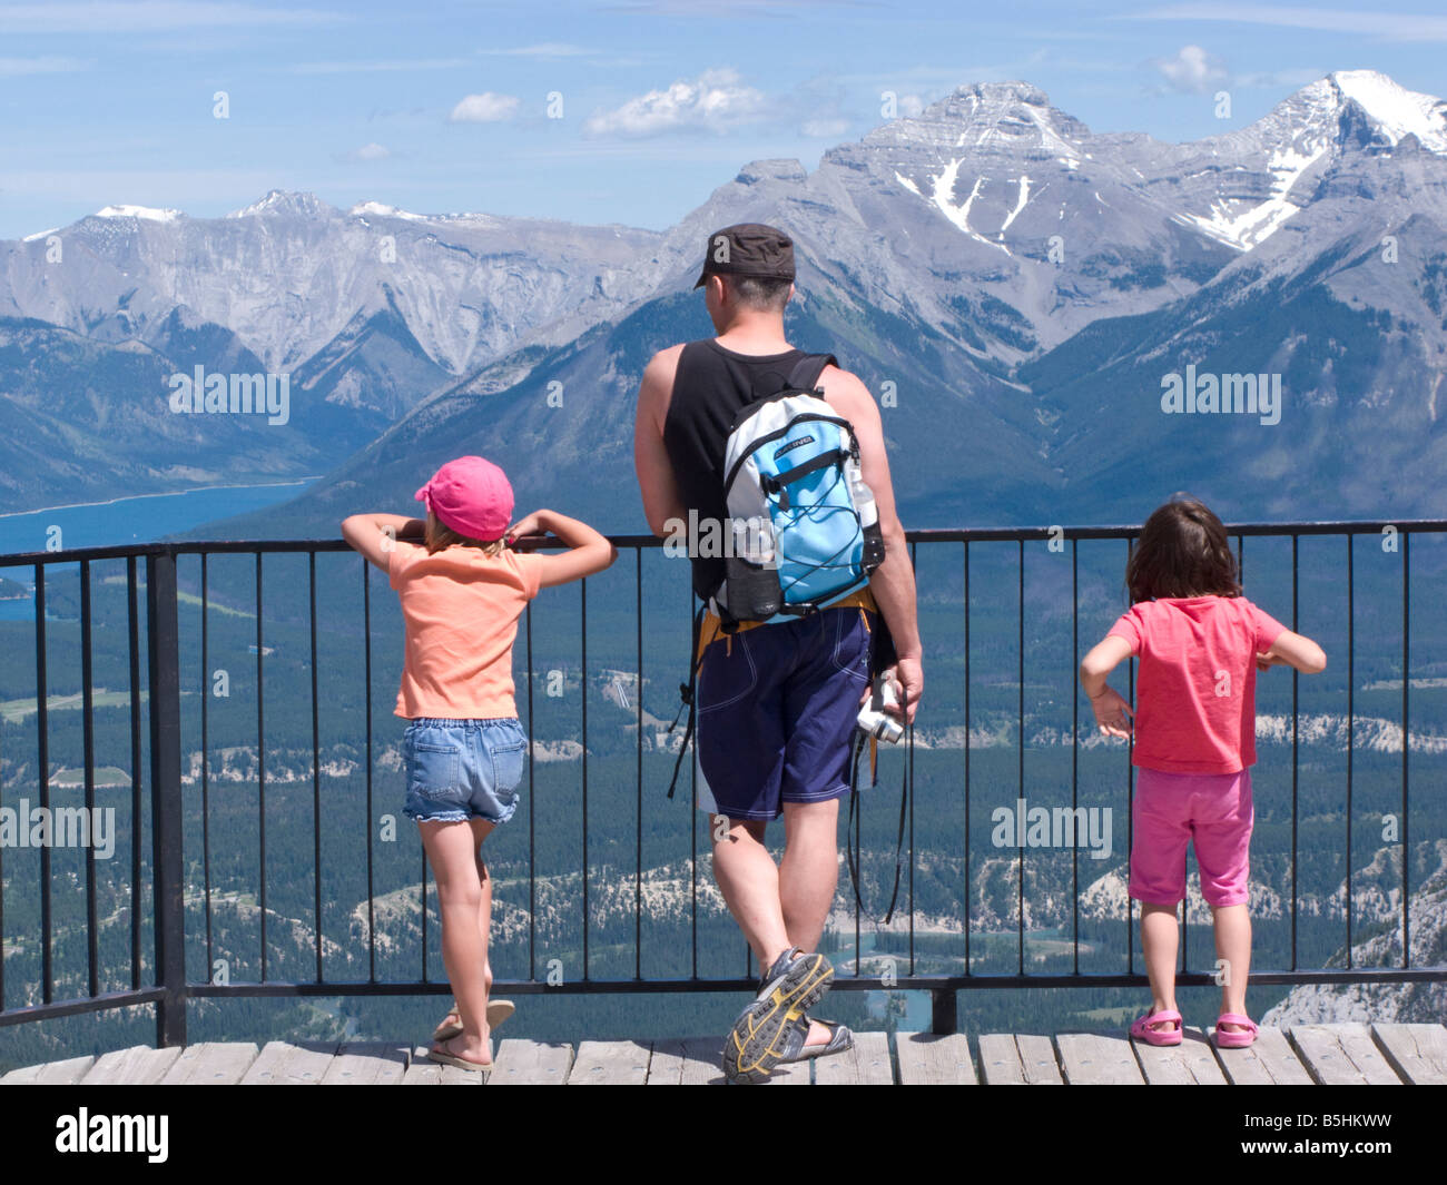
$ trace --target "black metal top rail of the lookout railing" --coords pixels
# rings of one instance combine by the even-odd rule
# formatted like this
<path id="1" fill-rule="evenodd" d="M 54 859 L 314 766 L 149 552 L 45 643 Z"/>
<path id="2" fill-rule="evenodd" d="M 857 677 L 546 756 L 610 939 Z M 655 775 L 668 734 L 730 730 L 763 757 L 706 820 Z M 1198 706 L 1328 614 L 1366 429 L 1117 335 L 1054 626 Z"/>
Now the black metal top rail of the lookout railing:
<path id="1" fill-rule="evenodd" d="M 1227 522 L 1231 535 L 1282 537 L 1292 535 L 1375 535 L 1386 527 L 1402 534 L 1447 532 L 1444 518 L 1405 519 L 1341 519 L 1317 522 Z M 906 531 L 909 543 L 1014 543 L 1032 540 L 1124 540 L 1140 534 L 1140 525 L 1120 527 L 948 527 Z M 609 535 L 615 547 L 651 548 L 663 547 L 666 540 L 657 535 Z M 327 540 L 172 540 L 158 543 L 116 544 L 109 547 L 77 547 L 61 551 L 16 551 L 0 554 L 0 567 L 22 567 L 33 564 L 68 564 L 80 560 L 116 560 L 130 556 L 194 556 L 203 551 L 211 556 L 256 553 L 311 553 L 350 551 L 340 538 Z"/>

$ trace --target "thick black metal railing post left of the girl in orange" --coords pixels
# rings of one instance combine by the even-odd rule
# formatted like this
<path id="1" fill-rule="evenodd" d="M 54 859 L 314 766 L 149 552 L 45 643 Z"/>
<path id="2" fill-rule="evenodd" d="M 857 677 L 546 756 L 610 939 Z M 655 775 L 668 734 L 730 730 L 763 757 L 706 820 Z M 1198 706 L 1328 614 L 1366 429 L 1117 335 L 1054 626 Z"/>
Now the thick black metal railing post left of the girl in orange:
<path id="1" fill-rule="evenodd" d="M 185 904 L 181 864 L 181 661 L 177 558 L 146 557 L 150 700 L 150 874 L 155 884 L 156 1046 L 185 1045 Z"/>

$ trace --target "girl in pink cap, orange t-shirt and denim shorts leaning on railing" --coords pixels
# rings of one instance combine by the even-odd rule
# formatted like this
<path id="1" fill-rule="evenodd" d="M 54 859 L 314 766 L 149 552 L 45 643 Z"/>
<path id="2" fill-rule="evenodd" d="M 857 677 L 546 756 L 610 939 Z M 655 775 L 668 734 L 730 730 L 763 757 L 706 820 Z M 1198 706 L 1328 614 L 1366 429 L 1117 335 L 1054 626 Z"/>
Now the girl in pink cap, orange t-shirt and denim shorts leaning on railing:
<path id="1" fill-rule="evenodd" d="M 352 515 L 341 535 L 388 573 L 407 641 L 395 715 L 407 803 L 437 880 L 443 961 L 456 1001 L 428 1056 L 463 1069 L 492 1065 L 491 1026 L 512 1011 L 488 993 L 492 880 L 480 845 L 512 817 L 527 749 L 512 684 L 512 640 L 538 589 L 602 572 L 618 556 L 592 527 L 556 511 L 508 525 L 512 486 L 482 457 L 444 464 L 417 490 L 427 519 Z M 556 556 L 515 550 L 553 534 Z M 414 543 L 415 540 L 415 543 Z"/>

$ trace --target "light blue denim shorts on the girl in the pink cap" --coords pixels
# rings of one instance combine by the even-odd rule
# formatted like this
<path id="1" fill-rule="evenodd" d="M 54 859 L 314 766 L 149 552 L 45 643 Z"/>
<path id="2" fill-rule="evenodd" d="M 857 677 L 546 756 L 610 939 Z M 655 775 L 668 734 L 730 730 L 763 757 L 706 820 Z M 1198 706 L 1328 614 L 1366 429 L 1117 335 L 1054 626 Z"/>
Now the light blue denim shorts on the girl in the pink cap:
<path id="1" fill-rule="evenodd" d="M 518 809 L 528 738 L 515 718 L 418 716 L 402 734 L 408 819 L 505 823 Z"/>

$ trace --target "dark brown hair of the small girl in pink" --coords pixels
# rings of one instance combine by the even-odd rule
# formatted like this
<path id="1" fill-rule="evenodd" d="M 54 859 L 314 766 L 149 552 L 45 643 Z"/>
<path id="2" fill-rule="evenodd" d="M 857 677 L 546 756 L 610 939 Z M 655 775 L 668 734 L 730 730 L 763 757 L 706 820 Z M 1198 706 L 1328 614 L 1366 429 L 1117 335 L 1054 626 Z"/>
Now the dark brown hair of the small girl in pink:
<path id="1" fill-rule="evenodd" d="M 1240 596 L 1221 519 L 1188 493 L 1158 506 L 1130 553 L 1126 587 L 1132 603 L 1158 596 Z"/>

